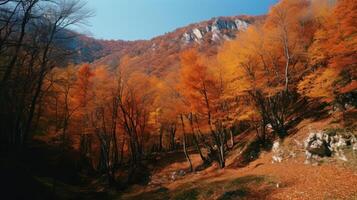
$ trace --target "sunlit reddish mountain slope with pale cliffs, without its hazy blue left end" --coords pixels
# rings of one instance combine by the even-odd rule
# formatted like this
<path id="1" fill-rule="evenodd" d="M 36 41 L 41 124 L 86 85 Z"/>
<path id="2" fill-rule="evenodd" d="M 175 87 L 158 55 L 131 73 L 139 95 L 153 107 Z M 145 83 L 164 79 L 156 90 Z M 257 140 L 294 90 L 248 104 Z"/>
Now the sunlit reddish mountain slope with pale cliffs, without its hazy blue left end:
<path id="1" fill-rule="evenodd" d="M 226 40 L 236 37 L 249 24 L 264 19 L 264 16 L 218 17 L 195 23 L 147 41 L 129 42 L 125 48 L 93 62 L 93 65 L 108 65 L 115 68 L 126 57 L 126 65 L 145 70 L 153 75 L 165 75 L 179 67 L 180 52 L 198 47 L 206 55 L 215 55 Z"/>

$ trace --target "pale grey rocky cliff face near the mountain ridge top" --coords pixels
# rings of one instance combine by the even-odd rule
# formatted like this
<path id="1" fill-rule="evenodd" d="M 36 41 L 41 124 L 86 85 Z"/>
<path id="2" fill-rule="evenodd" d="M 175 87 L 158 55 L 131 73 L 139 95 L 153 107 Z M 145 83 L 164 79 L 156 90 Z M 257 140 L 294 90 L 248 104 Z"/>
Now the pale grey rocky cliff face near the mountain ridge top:
<path id="1" fill-rule="evenodd" d="M 234 37 L 235 32 L 244 31 L 247 29 L 250 22 L 242 20 L 240 18 L 216 18 L 210 20 L 208 24 L 204 26 L 198 26 L 193 28 L 182 35 L 181 40 L 185 44 L 191 42 L 201 43 L 205 39 L 205 36 L 210 34 L 210 39 L 214 42 L 222 40 L 229 40 Z"/>

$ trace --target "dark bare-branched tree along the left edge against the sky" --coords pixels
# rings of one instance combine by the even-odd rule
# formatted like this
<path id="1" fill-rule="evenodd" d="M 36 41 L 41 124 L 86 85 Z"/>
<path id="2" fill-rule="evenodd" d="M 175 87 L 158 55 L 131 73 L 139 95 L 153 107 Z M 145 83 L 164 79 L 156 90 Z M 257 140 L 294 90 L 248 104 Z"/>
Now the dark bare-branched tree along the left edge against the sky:
<path id="1" fill-rule="evenodd" d="M 22 146 L 33 130 L 46 75 L 68 55 L 60 45 L 65 33 L 92 12 L 80 0 L 2 1 L 0 9 L 7 10 L 0 15 L 1 138 Z"/>

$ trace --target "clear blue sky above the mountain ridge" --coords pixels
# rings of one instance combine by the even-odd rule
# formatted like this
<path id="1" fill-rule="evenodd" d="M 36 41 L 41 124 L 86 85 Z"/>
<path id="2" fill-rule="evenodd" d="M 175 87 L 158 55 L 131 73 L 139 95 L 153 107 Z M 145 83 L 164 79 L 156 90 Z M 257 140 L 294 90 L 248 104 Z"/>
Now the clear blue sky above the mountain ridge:
<path id="1" fill-rule="evenodd" d="M 85 32 L 98 39 L 150 39 L 212 17 L 264 14 L 277 1 L 87 0 L 95 16 Z"/>

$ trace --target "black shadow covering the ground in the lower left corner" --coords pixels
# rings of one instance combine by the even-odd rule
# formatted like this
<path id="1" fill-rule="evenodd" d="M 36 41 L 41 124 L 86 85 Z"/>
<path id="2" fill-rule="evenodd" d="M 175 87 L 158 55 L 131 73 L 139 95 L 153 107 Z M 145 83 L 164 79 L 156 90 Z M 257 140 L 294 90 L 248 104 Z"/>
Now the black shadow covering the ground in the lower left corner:
<path id="1" fill-rule="evenodd" d="M 76 153 L 34 141 L 18 153 L 0 152 L 2 199 L 108 199 L 82 180 Z"/>

